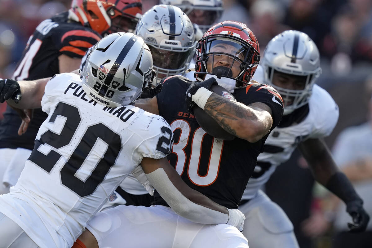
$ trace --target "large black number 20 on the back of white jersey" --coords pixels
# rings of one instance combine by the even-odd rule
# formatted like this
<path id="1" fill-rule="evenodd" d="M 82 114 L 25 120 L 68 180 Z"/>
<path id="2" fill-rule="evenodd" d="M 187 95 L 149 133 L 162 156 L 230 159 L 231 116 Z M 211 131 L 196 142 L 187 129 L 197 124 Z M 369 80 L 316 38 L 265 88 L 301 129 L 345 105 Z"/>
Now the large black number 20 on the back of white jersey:
<path id="1" fill-rule="evenodd" d="M 39 140 L 35 141 L 35 147 L 29 157 L 29 160 L 43 168 L 48 173 L 57 164 L 62 155 L 53 149 L 49 152 L 42 152 L 44 144 L 60 149 L 71 143 L 76 130 L 81 122 L 81 116 L 77 107 L 67 103 L 58 103 L 49 122 L 54 123 L 57 116 L 65 117 L 64 126 L 59 134 L 48 130 L 41 135 Z M 92 151 L 98 140 L 105 142 L 108 145 L 105 153 L 102 155 L 92 173 L 86 180 L 82 181 L 75 176 L 77 170 L 83 165 L 86 158 Z M 61 182 L 64 186 L 74 191 L 80 197 L 89 196 L 96 190 L 97 186 L 102 183 L 110 167 L 115 164 L 121 150 L 120 135 L 109 129 L 103 123 L 97 123 L 89 126 L 79 144 L 70 155 L 68 161 L 60 170 Z"/>

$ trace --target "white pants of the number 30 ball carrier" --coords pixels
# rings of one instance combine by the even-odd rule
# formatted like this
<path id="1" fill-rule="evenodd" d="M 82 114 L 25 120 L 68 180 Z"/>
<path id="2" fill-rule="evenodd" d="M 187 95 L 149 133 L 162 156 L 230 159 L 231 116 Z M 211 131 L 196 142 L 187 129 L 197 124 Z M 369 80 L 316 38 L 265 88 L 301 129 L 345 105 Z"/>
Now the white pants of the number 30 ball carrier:
<path id="1" fill-rule="evenodd" d="M 104 248 L 248 248 L 234 226 L 191 222 L 165 206 L 117 206 L 97 213 L 87 229 Z"/>

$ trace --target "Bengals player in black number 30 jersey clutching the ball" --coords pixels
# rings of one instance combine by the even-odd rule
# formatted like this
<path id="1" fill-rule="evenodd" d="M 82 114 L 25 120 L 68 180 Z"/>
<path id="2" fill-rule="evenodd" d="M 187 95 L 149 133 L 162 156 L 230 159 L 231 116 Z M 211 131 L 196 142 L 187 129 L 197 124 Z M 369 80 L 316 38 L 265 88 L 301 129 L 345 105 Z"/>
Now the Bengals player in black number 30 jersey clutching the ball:
<path id="1" fill-rule="evenodd" d="M 137 101 L 137 106 L 162 115 L 170 123 L 176 138 L 168 159 L 183 181 L 231 209 L 237 209 L 264 141 L 283 114 L 283 102 L 277 91 L 268 85 L 250 83 L 259 58 L 257 40 L 246 25 L 219 23 L 198 45 L 196 76 L 205 81 L 192 82 L 177 75 L 164 78 L 163 90 L 157 96 Z M 215 81 L 234 91 L 238 102 L 209 91 Z M 187 100 L 186 91 L 190 93 Z M 203 107 L 236 138 L 223 141 L 208 135 L 189 112 L 190 104 Z M 170 209 L 164 213 L 163 207 L 168 205 L 156 192 L 154 204 L 158 207 L 124 208 L 128 213 L 120 215 L 115 208 L 104 211 L 87 228 L 94 236 L 86 231 L 80 241 L 87 247 L 97 247 L 97 241 L 103 247 L 117 247 L 124 242 L 151 247 L 155 238 L 163 242 L 163 247 L 174 241 L 189 242 L 189 247 L 226 247 L 226 242 L 237 244 L 234 247 L 247 247 L 241 233 L 231 226 L 191 224 Z M 110 225 L 113 229 L 100 229 L 106 226 L 106 214 L 118 215 L 121 228 Z M 141 233 L 141 238 L 133 238 L 136 233 Z M 205 244 L 216 233 L 217 238 Z"/>

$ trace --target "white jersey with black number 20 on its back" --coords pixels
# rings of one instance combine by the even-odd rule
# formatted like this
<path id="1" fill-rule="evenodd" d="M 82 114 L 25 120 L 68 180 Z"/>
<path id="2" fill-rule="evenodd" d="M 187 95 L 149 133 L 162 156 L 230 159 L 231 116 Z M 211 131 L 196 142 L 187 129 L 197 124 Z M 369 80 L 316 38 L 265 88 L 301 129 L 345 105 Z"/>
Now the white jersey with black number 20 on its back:
<path id="1" fill-rule="evenodd" d="M 162 117 L 96 100 L 76 74 L 48 82 L 42 110 L 49 117 L 17 184 L 0 197 L 0 212 L 42 248 L 71 247 L 143 157 L 160 159 L 171 149 L 173 135 Z"/>

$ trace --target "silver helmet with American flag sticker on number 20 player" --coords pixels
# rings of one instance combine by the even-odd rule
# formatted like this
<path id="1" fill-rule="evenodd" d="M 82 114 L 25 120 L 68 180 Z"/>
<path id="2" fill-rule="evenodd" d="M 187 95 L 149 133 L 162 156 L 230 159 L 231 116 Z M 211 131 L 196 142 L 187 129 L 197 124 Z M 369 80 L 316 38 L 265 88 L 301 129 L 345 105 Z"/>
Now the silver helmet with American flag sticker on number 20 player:
<path id="1" fill-rule="evenodd" d="M 97 102 L 118 107 L 141 96 L 153 78 L 153 59 L 142 38 L 112 33 L 90 51 L 83 71 L 83 89 Z"/>

